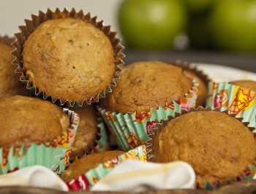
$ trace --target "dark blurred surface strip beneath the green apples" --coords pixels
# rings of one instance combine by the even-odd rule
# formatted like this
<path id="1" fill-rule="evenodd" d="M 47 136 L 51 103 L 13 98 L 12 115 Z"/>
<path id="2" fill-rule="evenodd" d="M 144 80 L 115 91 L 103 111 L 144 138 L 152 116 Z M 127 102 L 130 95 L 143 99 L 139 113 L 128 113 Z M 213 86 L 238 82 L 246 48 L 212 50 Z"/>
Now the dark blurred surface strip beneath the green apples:
<path id="1" fill-rule="evenodd" d="M 126 64 L 135 61 L 167 61 L 183 60 L 195 63 L 212 63 L 223 66 L 235 67 L 247 71 L 256 72 L 256 53 L 255 54 L 238 54 L 238 53 L 221 53 L 214 51 L 138 51 L 124 50 Z"/>

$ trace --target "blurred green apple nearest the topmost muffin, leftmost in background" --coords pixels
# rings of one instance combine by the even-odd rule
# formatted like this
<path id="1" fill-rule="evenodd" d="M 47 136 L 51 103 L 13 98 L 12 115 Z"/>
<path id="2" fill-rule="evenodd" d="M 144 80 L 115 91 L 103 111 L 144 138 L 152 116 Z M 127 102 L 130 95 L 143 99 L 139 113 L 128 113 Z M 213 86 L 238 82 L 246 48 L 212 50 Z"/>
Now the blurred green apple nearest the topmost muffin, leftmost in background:
<path id="1" fill-rule="evenodd" d="M 180 0 L 124 0 L 118 25 L 127 47 L 164 50 L 184 31 L 187 12 Z"/>

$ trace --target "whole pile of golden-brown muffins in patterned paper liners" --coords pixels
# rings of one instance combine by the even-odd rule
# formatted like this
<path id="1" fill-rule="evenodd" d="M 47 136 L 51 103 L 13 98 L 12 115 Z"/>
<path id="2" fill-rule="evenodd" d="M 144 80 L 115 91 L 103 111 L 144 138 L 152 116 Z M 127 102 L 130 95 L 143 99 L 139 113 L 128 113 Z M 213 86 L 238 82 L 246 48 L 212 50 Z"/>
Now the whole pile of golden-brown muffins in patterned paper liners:
<path id="1" fill-rule="evenodd" d="M 252 178 L 255 82 L 211 82 L 188 63 L 138 61 L 121 71 L 124 47 L 96 19 L 48 9 L 20 27 L 15 50 L 0 42 L 0 174 L 40 164 L 70 190 L 89 190 L 132 158 L 184 160 L 197 187 Z"/>

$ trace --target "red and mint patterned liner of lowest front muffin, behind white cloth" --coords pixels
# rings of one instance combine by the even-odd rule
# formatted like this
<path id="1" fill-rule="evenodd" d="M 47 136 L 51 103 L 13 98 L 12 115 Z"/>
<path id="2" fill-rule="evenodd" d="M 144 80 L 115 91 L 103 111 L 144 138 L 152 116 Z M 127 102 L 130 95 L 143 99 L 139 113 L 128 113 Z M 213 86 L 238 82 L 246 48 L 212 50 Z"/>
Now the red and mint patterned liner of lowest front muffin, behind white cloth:
<path id="1" fill-rule="evenodd" d="M 86 174 L 82 174 L 77 179 L 73 179 L 72 181 L 67 182 L 67 186 L 69 187 L 69 190 L 90 190 L 91 187 L 99 181 L 99 179 L 102 179 L 104 176 L 110 173 L 110 171 L 112 171 L 116 165 L 127 159 L 146 162 L 147 159 L 145 146 L 140 146 L 134 150 L 129 150 L 129 152 L 126 152 L 123 155 L 119 155 L 118 157 L 113 158 L 113 160 L 99 164 L 99 166 L 91 169 Z"/>

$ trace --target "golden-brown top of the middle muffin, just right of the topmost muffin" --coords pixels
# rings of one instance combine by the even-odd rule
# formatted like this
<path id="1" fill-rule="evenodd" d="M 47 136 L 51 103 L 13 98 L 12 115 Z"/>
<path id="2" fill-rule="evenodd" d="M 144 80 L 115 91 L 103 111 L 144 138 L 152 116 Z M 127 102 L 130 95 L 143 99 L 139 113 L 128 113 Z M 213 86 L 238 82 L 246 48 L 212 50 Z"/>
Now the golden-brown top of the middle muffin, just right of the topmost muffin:
<path id="1" fill-rule="evenodd" d="M 112 112 L 135 112 L 157 109 L 178 100 L 192 88 L 192 80 L 181 68 L 160 61 L 145 61 L 124 66 L 116 88 L 102 100 Z"/>

